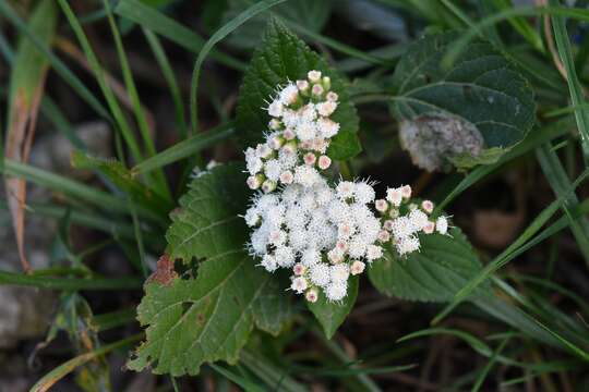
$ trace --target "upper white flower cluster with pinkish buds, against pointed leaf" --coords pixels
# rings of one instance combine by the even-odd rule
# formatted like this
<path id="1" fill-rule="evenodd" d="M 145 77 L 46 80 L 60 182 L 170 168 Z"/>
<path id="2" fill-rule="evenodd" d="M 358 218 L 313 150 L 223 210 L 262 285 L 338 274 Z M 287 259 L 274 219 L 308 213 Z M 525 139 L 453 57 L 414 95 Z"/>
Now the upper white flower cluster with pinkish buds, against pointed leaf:
<path id="1" fill-rule="evenodd" d="M 265 143 L 245 150 L 250 188 L 269 193 L 278 184 L 312 186 L 321 179 L 318 170 L 332 166 L 325 152 L 339 123 L 329 119 L 338 105 L 330 86 L 328 76 L 310 71 L 306 79 L 277 90 L 266 109 L 273 119 Z"/>

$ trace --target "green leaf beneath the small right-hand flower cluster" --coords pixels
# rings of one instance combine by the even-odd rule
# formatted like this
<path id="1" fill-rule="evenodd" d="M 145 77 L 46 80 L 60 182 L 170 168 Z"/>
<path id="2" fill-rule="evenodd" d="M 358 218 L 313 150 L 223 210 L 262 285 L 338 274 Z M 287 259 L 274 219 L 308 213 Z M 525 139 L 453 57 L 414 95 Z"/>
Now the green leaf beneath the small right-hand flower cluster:
<path id="1" fill-rule="evenodd" d="M 453 229 L 449 234 L 420 236 L 420 252 L 407 257 L 398 257 L 389 247 L 385 248 L 386 257 L 369 268 L 372 284 L 380 292 L 401 299 L 452 301 L 482 266 L 459 229 Z"/>

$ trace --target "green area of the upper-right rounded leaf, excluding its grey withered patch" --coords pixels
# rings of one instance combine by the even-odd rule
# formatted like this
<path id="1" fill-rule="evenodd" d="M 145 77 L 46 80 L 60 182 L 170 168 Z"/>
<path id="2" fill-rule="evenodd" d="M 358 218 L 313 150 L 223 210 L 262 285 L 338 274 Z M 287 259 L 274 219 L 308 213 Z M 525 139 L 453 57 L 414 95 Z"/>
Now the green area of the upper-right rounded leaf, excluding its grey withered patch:
<path id="1" fill-rule="evenodd" d="M 453 162 L 464 169 L 490 158 L 496 161 L 497 151 L 521 142 L 533 125 L 536 107 L 528 81 L 489 42 L 473 41 L 449 70 L 444 69 L 442 58 L 457 37 L 458 33 L 428 35 L 409 47 L 393 77 L 392 110 L 398 120 L 418 125 L 433 117 L 454 119 L 453 125 L 471 134 L 476 127 L 482 151 L 470 150 L 470 157 Z M 494 154 L 485 154 L 491 148 Z"/>

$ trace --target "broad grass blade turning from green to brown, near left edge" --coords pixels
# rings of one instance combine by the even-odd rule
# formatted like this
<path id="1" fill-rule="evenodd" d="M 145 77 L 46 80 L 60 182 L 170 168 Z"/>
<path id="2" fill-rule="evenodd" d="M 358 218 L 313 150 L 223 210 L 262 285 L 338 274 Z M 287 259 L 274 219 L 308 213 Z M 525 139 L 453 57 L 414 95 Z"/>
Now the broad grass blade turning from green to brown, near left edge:
<path id="1" fill-rule="evenodd" d="M 49 45 L 56 32 L 57 17 L 55 2 L 40 1 L 29 19 L 28 27 L 44 44 Z M 19 162 L 28 160 L 48 70 L 49 63 L 45 57 L 28 38 L 21 37 L 10 77 L 9 128 L 4 150 L 8 159 Z M 24 250 L 26 182 L 7 177 L 5 188 L 19 256 L 23 269 L 28 271 L 31 265 Z"/>

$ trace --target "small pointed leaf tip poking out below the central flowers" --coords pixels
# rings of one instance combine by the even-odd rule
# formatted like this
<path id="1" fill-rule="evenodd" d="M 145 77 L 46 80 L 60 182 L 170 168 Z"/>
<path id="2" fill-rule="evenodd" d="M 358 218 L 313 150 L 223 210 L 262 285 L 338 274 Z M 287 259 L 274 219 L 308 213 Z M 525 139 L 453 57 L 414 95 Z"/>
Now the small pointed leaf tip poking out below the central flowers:
<path id="1" fill-rule="evenodd" d="M 320 290 L 317 302 L 306 303 L 309 309 L 323 328 L 327 339 L 332 339 L 339 326 L 346 320 L 358 296 L 358 275 L 351 277 L 348 282 L 348 295 L 341 302 L 329 302 L 325 293 Z"/>

